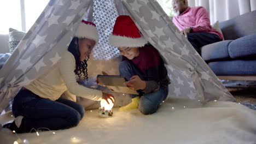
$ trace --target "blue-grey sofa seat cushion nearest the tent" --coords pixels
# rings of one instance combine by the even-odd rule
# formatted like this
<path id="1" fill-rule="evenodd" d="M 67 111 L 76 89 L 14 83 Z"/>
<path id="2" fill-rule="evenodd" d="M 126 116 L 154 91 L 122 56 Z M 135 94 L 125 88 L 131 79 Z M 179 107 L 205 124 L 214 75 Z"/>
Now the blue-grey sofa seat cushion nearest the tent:
<path id="1" fill-rule="evenodd" d="M 203 60 L 209 62 L 230 59 L 228 46 L 231 42 L 232 40 L 224 40 L 203 46 L 201 48 Z"/>

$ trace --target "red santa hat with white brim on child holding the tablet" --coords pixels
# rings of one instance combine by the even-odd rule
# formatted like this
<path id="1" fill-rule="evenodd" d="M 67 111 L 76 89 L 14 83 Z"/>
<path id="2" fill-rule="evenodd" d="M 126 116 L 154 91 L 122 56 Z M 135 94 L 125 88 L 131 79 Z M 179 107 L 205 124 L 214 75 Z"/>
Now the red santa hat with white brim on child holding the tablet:
<path id="1" fill-rule="evenodd" d="M 109 44 L 117 47 L 141 47 L 148 41 L 139 33 L 139 29 L 128 15 L 120 15 L 115 20 Z"/>

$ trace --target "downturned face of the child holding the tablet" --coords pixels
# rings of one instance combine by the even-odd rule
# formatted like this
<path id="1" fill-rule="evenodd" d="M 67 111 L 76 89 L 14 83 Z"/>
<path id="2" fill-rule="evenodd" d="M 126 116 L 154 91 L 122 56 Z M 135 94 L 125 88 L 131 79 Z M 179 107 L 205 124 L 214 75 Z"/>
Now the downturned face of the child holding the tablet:
<path id="1" fill-rule="evenodd" d="M 139 47 L 118 47 L 122 56 L 133 59 L 139 55 Z"/>

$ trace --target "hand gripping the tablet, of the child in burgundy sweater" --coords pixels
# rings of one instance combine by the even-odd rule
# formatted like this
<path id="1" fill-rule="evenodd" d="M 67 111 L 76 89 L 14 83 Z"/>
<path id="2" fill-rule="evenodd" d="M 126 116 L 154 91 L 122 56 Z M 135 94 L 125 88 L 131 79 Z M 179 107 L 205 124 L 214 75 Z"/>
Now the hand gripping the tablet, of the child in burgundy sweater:
<path id="1" fill-rule="evenodd" d="M 146 82 L 141 80 L 141 78 L 138 75 L 133 75 L 130 81 L 126 81 L 124 85 L 135 91 L 137 91 L 138 89 L 143 90 L 146 88 Z"/>

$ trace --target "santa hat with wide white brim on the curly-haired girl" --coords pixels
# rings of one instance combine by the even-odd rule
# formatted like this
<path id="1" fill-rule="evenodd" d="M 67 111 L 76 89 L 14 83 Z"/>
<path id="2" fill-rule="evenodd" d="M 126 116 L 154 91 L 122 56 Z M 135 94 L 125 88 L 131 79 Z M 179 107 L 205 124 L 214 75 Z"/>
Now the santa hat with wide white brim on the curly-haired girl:
<path id="1" fill-rule="evenodd" d="M 78 38 L 88 38 L 98 42 L 98 30 L 96 25 L 92 22 L 82 20 L 75 32 L 74 37 Z"/>

